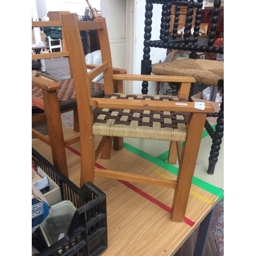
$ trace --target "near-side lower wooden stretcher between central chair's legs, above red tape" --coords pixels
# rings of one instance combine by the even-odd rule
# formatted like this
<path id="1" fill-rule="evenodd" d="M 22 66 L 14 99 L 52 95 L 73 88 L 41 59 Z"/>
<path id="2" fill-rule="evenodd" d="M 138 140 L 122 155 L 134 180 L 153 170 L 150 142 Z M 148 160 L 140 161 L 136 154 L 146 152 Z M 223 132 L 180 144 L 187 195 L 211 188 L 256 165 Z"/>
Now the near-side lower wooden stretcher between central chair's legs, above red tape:
<path id="1" fill-rule="evenodd" d="M 138 182 L 141 184 L 155 185 L 155 186 L 168 187 L 168 188 L 177 187 L 177 181 L 174 181 L 174 180 L 165 180 L 165 179 L 148 177 L 143 175 L 122 173 L 122 172 L 117 172 L 115 170 L 94 169 L 94 176 L 115 179 L 115 180 Z"/>

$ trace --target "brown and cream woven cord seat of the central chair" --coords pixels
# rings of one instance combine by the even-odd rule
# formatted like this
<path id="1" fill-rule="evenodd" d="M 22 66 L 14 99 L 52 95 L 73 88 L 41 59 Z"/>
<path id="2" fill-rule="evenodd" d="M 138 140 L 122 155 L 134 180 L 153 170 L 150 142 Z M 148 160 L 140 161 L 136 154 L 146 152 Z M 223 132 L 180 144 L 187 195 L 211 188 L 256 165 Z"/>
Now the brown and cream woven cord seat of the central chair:
<path id="1" fill-rule="evenodd" d="M 104 98 L 186 101 L 172 95 L 108 94 Z M 94 135 L 185 141 L 189 113 L 100 109 L 94 111 Z"/>

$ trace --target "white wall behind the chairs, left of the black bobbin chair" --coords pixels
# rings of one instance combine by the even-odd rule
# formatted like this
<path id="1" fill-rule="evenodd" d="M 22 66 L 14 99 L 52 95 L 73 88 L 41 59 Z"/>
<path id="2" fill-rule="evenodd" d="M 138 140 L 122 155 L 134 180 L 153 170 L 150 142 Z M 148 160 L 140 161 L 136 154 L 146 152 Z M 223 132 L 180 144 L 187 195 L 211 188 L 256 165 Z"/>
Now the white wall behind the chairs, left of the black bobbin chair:
<path id="1" fill-rule="evenodd" d="M 159 39 L 161 5 L 154 5 L 152 39 Z M 101 0 L 101 15 L 106 19 L 113 66 L 123 68 L 130 74 L 141 73 L 143 59 L 145 1 Z M 152 63 L 158 63 L 166 56 L 166 49 L 152 48 Z M 141 93 L 142 82 L 124 83 L 125 93 Z M 148 94 L 155 94 L 156 82 L 149 82 Z"/>

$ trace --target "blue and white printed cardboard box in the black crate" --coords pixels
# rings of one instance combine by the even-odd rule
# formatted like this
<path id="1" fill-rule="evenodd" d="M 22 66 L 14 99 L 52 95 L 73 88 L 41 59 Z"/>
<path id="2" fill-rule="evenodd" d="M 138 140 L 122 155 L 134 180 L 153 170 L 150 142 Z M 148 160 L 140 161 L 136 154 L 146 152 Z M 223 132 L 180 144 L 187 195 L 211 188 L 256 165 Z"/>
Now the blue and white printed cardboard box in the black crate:
<path id="1" fill-rule="evenodd" d="M 51 205 L 40 190 L 32 185 L 32 233 L 52 211 Z"/>

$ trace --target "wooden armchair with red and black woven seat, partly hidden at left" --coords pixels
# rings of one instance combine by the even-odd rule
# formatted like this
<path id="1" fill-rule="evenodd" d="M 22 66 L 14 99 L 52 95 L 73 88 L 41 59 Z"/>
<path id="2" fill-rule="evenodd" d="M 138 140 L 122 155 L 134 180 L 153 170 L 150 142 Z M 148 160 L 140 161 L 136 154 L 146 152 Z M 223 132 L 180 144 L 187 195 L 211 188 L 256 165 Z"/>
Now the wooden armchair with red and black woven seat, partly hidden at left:
<path id="1" fill-rule="evenodd" d="M 61 22 L 32 22 L 32 28 L 35 27 L 62 27 Z M 68 57 L 68 51 L 33 54 L 32 60 Z M 84 55 L 83 55 L 84 58 Z M 96 65 L 88 65 L 89 69 L 95 69 Z M 123 69 L 113 69 L 114 73 L 126 73 Z M 104 84 L 91 81 L 89 90 L 94 97 L 104 96 Z M 115 90 L 122 92 L 120 82 L 116 81 Z M 65 176 L 69 177 L 68 164 L 65 148 L 80 140 L 79 120 L 77 113 L 76 92 L 74 87 L 73 72 L 70 66 L 70 78 L 56 80 L 47 74 L 38 72 L 32 76 L 32 106 L 36 106 L 44 113 L 32 117 L 32 123 L 44 120 L 47 121 L 49 135 L 33 129 L 32 135 L 51 146 L 54 166 Z M 64 136 L 61 124 L 61 113 L 73 111 L 74 132 Z M 121 139 L 115 139 L 115 144 L 121 145 Z M 116 148 L 118 149 L 118 147 Z"/>

